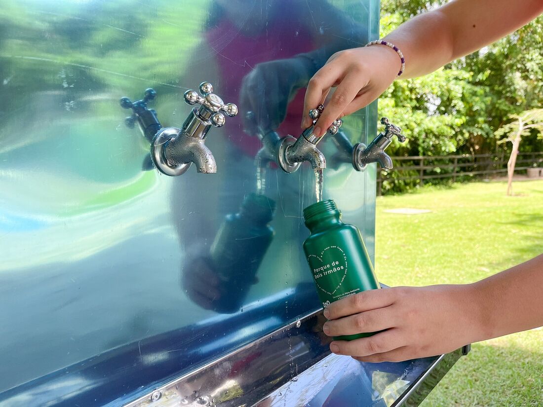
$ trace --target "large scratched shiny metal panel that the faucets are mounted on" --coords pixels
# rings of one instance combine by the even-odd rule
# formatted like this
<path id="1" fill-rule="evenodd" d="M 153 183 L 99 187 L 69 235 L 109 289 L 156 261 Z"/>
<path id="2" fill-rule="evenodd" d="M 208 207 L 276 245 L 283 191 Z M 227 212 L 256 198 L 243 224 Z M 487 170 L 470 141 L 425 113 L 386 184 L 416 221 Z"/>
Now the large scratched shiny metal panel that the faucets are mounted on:
<path id="1" fill-rule="evenodd" d="M 306 165 L 266 171 L 275 235 L 231 307 L 228 296 L 217 306 L 198 280 L 201 260 L 256 190 L 261 144 L 244 132 L 244 113 L 298 136 L 303 91 L 289 91 L 308 78 L 284 61 L 322 50 L 313 62 L 324 63 L 334 49 L 375 39 L 377 23 L 375 0 L 3 2 L 0 405 L 74 405 L 83 393 L 84 405 L 100 405 L 143 394 L 319 307 L 301 254 L 301 212 L 315 200 Z M 260 85 L 244 87 L 255 68 Z M 180 126 L 190 112 L 183 93 L 204 80 L 240 111 L 207 138 L 218 173 L 142 170 L 149 145 L 124 126 L 119 98 L 153 87 L 161 123 Z M 376 122 L 373 104 L 343 130 L 368 142 Z M 335 151 L 330 141 L 319 148 Z M 324 182 L 324 198 L 361 228 L 373 259 L 375 164 L 363 173 L 348 163 L 329 168 Z M 123 359 L 135 347 L 138 356 Z M 99 373 L 82 373 L 98 362 Z M 122 385 L 108 387 L 117 376 Z"/>

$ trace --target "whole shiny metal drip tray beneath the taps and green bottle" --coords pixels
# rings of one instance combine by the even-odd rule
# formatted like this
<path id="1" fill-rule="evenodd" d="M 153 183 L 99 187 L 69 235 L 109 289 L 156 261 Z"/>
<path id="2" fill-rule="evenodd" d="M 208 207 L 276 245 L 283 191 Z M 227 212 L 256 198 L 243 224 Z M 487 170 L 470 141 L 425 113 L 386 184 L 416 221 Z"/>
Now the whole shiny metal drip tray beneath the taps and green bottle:
<path id="1" fill-rule="evenodd" d="M 125 407 L 415 406 L 461 354 L 361 363 L 330 354 L 324 321 L 312 313 Z"/>

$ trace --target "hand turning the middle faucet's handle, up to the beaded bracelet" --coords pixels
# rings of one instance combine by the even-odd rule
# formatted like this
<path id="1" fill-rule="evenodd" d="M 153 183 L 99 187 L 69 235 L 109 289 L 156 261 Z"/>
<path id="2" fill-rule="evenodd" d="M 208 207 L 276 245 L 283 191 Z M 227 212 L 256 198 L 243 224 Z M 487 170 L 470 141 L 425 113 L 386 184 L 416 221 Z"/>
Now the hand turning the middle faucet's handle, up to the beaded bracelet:
<path id="1" fill-rule="evenodd" d="M 313 130 L 314 135 L 323 136 L 334 120 L 377 99 L 392 84 L 400 67 L 398 55 L 386 46 L 352 48 L 333 54 L 309 81 L 301 127 L 311 125 L 309 111 L 323 104 L 324 112 Z M 325 104 L 332 87 L 336 91 Z"/>

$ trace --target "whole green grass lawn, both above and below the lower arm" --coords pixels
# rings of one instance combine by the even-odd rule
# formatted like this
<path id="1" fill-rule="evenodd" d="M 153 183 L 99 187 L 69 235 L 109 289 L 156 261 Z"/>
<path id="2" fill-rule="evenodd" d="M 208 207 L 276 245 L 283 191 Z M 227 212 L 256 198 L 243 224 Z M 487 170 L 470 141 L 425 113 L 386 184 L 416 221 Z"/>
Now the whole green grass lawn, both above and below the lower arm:
<path id="1" fill-rule="evenodd" d="M 543 181 L 513 188 L 516 195 L 506 196 L 504 182 L 477 182 L 377 198 L 380 281 L 470 283 L 542 253 Z M 393 208 L 432 212 L 384 212 Z M 543 405 L 543 329 L 473 345 L 422 405 Z"/>

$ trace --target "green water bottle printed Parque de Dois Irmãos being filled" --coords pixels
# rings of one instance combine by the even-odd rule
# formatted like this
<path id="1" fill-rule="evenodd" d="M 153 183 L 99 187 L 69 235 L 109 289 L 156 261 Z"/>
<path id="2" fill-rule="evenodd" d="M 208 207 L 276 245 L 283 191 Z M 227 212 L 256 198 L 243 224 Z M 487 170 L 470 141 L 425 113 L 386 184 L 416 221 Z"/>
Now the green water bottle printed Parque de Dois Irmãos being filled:
<path id="1" fill-rule="evenodd" d="M 324 308 L 348 295 L 380 288 L 360 231 L 343 223 L 336 202 L 313 203 L 304 209 L 304 219 L 311 231 L 304 252 Z M 372 334 L 334 339 L 349 341 Z"/>

